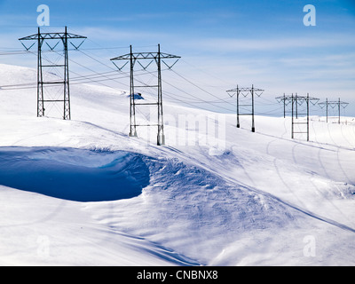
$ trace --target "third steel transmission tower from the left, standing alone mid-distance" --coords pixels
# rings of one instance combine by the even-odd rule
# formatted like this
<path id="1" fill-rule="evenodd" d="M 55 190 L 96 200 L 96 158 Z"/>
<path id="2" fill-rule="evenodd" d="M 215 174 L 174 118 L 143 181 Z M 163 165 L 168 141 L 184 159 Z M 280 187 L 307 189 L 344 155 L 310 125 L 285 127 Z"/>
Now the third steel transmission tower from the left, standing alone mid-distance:
<path id="1" fill-rule="evenodd" d="M 255 132 L 255 122 L 254 122 L 254 110 L 255 110 L 255 106 L 254 106 L 254 95 L 256 95 L 257 97 L 260 97 L 262 95 L 262 93 L 264 92 L 264 90 L 261 89 L 256 89 L 254 88 L 254 85 L 251 86 L 251 88 L 240 88 L 237 85 L 237 88 L 232 89 L 232 90 L 227 90 L 226 91 L 230 97 L 233 97 L 235 94 L 237 95 L 237 128 L 241 127 L 241 123 L 240 123 L 240 119 L 239 116 L 240 115 L 251 115 L 251 131 Z M 240 95 L 242 95 L 244 98 L 246 98 L 248 95 L 251 95 L 251 104 L 248 105 L 241 105 L 240 104 Z M 240 113 L 240 106 L 251 106 L 251 113 Z"/>

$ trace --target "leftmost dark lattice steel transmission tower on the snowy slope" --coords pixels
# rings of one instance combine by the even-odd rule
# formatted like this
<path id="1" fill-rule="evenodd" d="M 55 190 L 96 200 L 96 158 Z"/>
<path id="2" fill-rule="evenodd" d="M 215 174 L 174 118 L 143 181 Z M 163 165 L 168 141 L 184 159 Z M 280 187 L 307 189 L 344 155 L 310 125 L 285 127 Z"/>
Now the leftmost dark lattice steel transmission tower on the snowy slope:
<path id="1" fill-rule="evenodd" d="M 75 50 L 79 49 L 79 47 L 83 44 L 86 36 L 78 36 L 74 34 L 67 33 L 67 27 L 65 27 L 64 33 L 41 33 L 41 29 L 38 28 L 38 33 L 32 36 L 25 36 L 20 38 L 20 42 L 29 51 L 36 43 L 37 43 L 37 117 L 44 116 L 45 108 L 44 103 L 56 103 L 63 102 L 63 119 L 70 120 L 70 89 L 69 89 L 69 59 L 68 59 L 68 43 L 70 43 Z M 80 40 L 79 44 L 76 45 L 72 42 L 73 40 Z M 31 45 L 27 46 L 24 42 L 26 41 L 34 41 Z M 51 44 L 49 43 L 51 42 Z M 53 43 L 54 42 L 54 43 Z M 63 53 L 64 55 L 60 55 L 64 57 L 64 62 L 59 64 L 59 62 L 53 62 L 46 57 L 43 57 L 43 45 L 44 43 L 49 48 L 48 51 L 52 51 L 58 54 L 56 51 L 56 47 L 59 43 L 63 44 Z M 46 51 L 47 52 L 47 51 Z M 43 61 L 46 61 L 43 64 Z M 55 60 L 58 61 L 58 60 Z M 47 69 L 48 68 L 48 69 Z M 52 70 L 58 70 L 57 68 L 63 69 L 63 78 L 61 80 L 54 80 L 51 78 L 47 81 L 44 78 L 43 69 L 48 70 L 48 72 Z M 44 98 L 44 86 L 53 88 L 54 86 L 62 86 L 63 91 L 63 99 L 59 98 Z M 55 89 L 55 88 L 54 88 Z M 60 89 L 60 88 L 59 88 Z M 60 90 L 57 89 L 57 93 Z"/>

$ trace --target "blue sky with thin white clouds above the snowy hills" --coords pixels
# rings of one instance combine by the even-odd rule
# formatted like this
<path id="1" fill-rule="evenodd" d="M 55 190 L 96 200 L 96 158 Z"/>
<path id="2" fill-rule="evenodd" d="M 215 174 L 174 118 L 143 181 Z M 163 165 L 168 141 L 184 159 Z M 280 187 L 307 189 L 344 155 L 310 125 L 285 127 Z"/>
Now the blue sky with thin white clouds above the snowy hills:
<path id="1" fill-rule="evenodd" d="M 200 88 L 164 74 L 167 82 L 184 88 L 184 93 L 171 90 L 177 97 L 186 99 L 188 92 L 233 103 L 225 90 L 255 84 L 265 90 L 258 109 L 271 106 L 284 92 L 309 92 L 320 100 L 340 97 L 351 103 L 344 114 L 355 116 L 353 0 L 0 0 L 0 51 L 21 49 L 18 38 L 36 33 L 39 4 L 50 8 L 50 27 L 44 30 L 67 26 L 72 33 L 88 36 L 83 51 L 110 67 L 109 59 L 129 52 L 130 44 L 136 51 L 151 51 L 161 43 L 162 51 L 181 56 L 174 70 Z M 306 4 L 316 8 L 316 26 L 304 26 Z M 117 48 L 99 50 L 111 47 Z M 94 48 L 98 50 L 89 51 Z M 91 70 L 107 71 L 81 53 L 72 52 L 70 58 Z M 28 54 L 1 56 L 0 62 L 36 67 L 36 59 Z M 90 74 L 79 65 L 71 67 L 76 74 Z"/>

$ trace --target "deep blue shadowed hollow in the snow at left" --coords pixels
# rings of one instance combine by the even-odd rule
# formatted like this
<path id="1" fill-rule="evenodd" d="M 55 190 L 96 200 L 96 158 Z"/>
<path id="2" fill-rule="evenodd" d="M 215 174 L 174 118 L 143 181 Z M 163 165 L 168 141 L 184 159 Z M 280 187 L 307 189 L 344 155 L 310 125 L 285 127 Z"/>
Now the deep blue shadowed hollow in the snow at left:
<path id="1" fill-rule="evenodd" d="M 75 148 L 0 148 L 0 185 L 69 201 L 138 196 L 149 184 L 144 156 Z"/>

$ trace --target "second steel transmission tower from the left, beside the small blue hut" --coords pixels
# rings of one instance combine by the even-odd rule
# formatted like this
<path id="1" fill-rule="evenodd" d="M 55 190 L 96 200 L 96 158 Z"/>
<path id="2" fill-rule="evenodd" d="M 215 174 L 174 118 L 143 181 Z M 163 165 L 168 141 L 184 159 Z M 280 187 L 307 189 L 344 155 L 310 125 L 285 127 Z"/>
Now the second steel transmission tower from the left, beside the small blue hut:
<path id="1" fill-rule="evenodd" d="M 158 44 L 157 52 L 132 52 L 132 46 L 130 45 L 130 53 L 124 54 L 111 61 L 126 61 L 121 67 L 118 67 L 115 63 L 114 65 L 121 71 L 123 67 L 130 62 L 130 137 L 137 137 L 137 127 L 139 126 L 154 126 L 158 128 L 157 134 L 157 145 L 161 146 L 165 144 L 165 136 L 164 136 L 164 121 L 163 121 L 163 112 L 162 112 L 162 63 L 164 66 L 169 69 L 173 67 L 177 60 L 180 59 L 180 56 L 172 55 L 168 53 L 161 52 L 161 46 Z M 168 65 L 166 63 L 167 59 L 175 59 L 174 63 Z M 148 64 L 142 64 L 142 60 L 150 60 Z M 154 84 L 145 84 L 139 82 L 138 79 L 135 78 L 135 66 L 136 63 L 143 70 L 146 70 L 147 67 L 151 65 L 155 61 L 157 67 L 157 82 Z M 136 81 L 138 84 L 136 84 Z M 138 96 L 138 92 L 136 90 L 140 90 L 142 88 L 150 88 L 155 89 L 157 92 L 157 101 L 156 102 L 141 102 L 141 98 Z M 158 106 L 158 117 L 157 123 L 148 123 L 148 124 L 139 124 L 136 120 L 136 107 L 137 106 Z"/>

